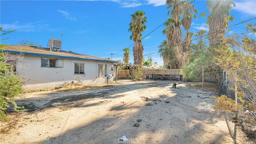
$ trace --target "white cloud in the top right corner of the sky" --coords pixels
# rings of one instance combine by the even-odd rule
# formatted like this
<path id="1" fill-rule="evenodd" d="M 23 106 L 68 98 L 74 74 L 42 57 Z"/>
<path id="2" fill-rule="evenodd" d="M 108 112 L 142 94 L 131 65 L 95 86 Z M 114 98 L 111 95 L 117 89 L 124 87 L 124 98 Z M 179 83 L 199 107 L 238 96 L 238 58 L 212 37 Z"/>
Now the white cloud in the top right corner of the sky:
<path id="1" fill-rule="evenodd" d="M 256 1 L 244 1 L 244 2 L 236 2 L 236 6 L 234 10 L 244 12 L 251 15 L 256 15 Z"/>

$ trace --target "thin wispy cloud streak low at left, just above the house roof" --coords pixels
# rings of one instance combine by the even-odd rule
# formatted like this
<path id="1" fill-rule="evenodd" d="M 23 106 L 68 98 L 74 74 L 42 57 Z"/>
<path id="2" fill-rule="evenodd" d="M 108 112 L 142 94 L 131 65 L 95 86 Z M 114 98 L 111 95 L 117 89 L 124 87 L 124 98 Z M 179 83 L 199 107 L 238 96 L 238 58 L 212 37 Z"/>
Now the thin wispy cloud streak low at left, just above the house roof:
<path id="1" fill-rule="evenodd" d="M 18 21 L 14 23 L 2 24 L 1 27 L 5 30 L 18 30 L 18 31 L 42 31 L 45 30 L 49 25 L 44 23 L 44 21 L 29 22 L 26 24 L 20 24 Z"/>

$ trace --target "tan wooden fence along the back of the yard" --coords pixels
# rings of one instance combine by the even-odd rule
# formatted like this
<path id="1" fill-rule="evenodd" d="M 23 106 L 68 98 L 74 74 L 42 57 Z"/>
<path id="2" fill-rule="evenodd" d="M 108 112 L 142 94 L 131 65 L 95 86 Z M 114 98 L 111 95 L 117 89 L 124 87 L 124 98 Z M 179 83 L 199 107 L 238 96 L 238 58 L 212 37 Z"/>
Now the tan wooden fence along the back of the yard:
<path id="1" fill-rule="evenodd" d="M 118 69 L 117 78 L 130 78 L 137 69 Z M 144 75 L 182 75 L 181 69 L 142 69 Z"/>

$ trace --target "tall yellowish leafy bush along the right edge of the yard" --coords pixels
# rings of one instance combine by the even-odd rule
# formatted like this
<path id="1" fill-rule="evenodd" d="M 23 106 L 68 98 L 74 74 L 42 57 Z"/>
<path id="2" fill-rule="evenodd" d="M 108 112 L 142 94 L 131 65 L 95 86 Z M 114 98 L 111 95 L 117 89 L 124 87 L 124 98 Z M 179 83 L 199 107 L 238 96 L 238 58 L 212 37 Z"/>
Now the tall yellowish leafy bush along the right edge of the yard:
<path id="1" fill-rule="evenodd" d="M 216 110 L 230 111 L 237 114 L 238 123 L 245 133 L 254 140 L 256 131 L 256 43 L 250 34 L 256 33 L 255 25 L 246 26 L 248 34 L 234 34 L 226 36 L 216 51 L 215 60 L 218 61 L 222 70 L 227 73 L 229 89 L 237 93 L 238 104 L 232 99 L 221 99 L 223 103 L 240 105 L 239 109 L 230 111 L 234 107 L 216 107 Z M 235 87 L 237 87 L 235 89 Z M 230 98 L 233 95 L 229 95 Z M 254 133 L 254 134 L 253 134 Z"/>

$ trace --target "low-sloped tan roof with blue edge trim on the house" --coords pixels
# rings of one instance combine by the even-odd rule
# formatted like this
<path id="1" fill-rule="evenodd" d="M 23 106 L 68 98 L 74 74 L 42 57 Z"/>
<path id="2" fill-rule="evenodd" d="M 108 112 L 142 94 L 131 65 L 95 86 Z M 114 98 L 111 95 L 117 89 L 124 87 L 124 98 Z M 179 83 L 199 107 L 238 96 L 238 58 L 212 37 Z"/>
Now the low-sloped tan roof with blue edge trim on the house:
<path id="1" fill-rule="evenodd" d="M 39 57 L 92 60 L 92 61 L 112 62 L 112 63 L 117 62 L 114 60 L 103 59 L 99 57 L 92 57 L 90 55 L 74 53 L 71 51 L 60 51 L 60 52 L 50 51 L 47 48 L 36 47 L 36 46 L 9 45 L 5 47 L 5 52 L 13 53 L 13 54 L 33 55 L 33 56 L 39 56 Z"/>

